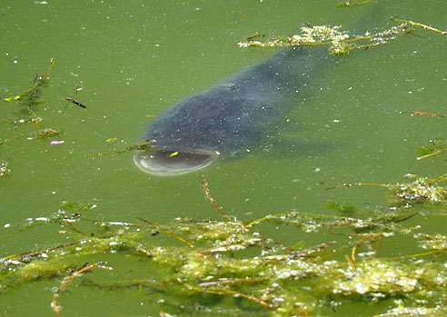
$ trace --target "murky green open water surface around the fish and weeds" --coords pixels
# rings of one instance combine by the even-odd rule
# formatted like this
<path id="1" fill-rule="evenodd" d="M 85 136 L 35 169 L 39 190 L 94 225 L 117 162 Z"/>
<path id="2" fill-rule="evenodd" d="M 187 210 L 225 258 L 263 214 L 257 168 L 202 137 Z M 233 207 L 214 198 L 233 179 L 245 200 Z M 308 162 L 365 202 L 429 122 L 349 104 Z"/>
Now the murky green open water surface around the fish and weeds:
<path id="1" fill-rule="evenodd" d="M 416 160 L 419 146 L 438 135 L 445 137 L 445 119 L 409 112 L 447 113 L 447 38 L 422 28 L 328 64 L 324 77 L 315 79 L 313 94 L 289 115 L 282 134 L 240 158 L 213 163 L 197 173 L 159 178 L 138 170 L 132 154 L 88 156 L 133 144 L 151 116 L 273 54 L 273 49 L 235 45 L 254 32 L 291 35 L 303 23 L 349 29 L 360 19 L 371 24 L 362 31 L 374 31 L 396 25 L 388 19 L 392 15 L 447 28 L 443 0 L 377 1 L 382 8 L 378 11 L 371 11 L 374 4 L 341 9 L 337 3 L 4 0 L 0 96 L 24 93 L 54 58 L 43 95 L 46 103 L 35 114 L 44 119 L 44 127 L 63 134 L 0 145 L 0 161 L 8 161 L 11 170 L 0 178 L 0 235 L 8 233 L 5 224 L 48 216 L 63 201 L 95 203 L 88 216 L 98 220 L 219 219 L 205 198 L 201 175 L 226 213 L 255 219 L 292 210 L 333 213 L 326 207 L 329 201 L 373 211 L 373 206 L 387 202 L 382 188 L 324 188 L 397 183 L 405 173 L 445 173 L 444 156 Z M 77 87 L 84 89 L 76 93 Z M 67 105 L 66 97 L 87 108 Z M 16 108 L 14 102 L 2 101 L 0 121 L 17 115 Z M 32 124 L 1 124 L 0 140 L 33 131 Z M 105 142 L 110 138 L 117 141 Z M 51 140 L 65 143 L 50 145 Z M 423 225 L 436 228 L 434 221 Z M 68 242 L 57 230 L 1 240 L 0 256 Z M 293 241 L 283 233 L 283 242 L 288 239 Z M 97 256 L 96 261 L 103 260 Z M 134 263 L 131 270 L 124 260 L 114 261 L 110 264 L 117 280 L 147 270 L 144 263 Z M 49 280 L 7 292 L 7 301 L 0 298 L 0 314 L 52 315 L 52 288 L 59 285 L 60 280 Z M 83 288 L 68 297 L 63 304 L 66 316 L 160 312 L 136 292 Z"/>

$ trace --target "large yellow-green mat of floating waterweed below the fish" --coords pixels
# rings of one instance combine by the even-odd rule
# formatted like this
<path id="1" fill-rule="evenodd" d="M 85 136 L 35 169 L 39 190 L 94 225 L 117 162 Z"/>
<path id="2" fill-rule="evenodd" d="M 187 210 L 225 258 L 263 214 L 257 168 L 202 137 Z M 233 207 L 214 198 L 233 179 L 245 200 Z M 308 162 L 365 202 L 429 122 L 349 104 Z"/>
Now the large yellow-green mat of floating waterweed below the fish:
<path id="1" fill-rule="evenodd" d="M 48 218 L 6 226 L 2 240 L 39 228 L 63 239 L 2 258 L 0 292 L 47 279 L 54 295 L 43 304 L 51 303 L 57 315 L 73 313 L 64 307 L 76 287 L 97 292 L 98 302 L 110 292 L 138 292 L 166 316 L 333 315 L 359 304 L 386 316 L 443 314 L 447 236 L 424 233 L 414 220 L 445 216 L 447 188 L 441 185 L 447 179 L 410 177 L 412 183 L 379 184 L 391 203 L 369 215 L 333 203 L 339 214 L 353 215 L 291 212 L 241 222 L 214 202 L 204 179 L 205 195 L 224 220 L 97 221 L 91 218 L 95 204 L 65 202 Z M 286 227 L 295 244 L 281 243 Z M 315 237 L 321 243 L 306 243 Z M 395 247 L 402 239 L 414 245 L 411 252 Z M 114 275 L 114 263 L 124 259 L 126 267 L 144 265 L 148 275 Z"/>

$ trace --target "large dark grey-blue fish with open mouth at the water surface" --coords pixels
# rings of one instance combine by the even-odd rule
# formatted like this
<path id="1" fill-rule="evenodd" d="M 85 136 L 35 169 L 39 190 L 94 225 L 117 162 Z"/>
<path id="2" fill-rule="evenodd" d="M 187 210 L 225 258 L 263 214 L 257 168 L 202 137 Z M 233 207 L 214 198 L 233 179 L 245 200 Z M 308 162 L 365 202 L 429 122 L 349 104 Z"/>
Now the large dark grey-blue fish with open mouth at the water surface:
<path id="1" fill-rule="evenodd" d="M 333 57 L 323 47 L 286 47 L 180 100 L 148 124 L 143 141 L 150 149 L 137 150 L 134 163 L 145 173 L 173 176 L 252 151 L 304 103 Z"/>

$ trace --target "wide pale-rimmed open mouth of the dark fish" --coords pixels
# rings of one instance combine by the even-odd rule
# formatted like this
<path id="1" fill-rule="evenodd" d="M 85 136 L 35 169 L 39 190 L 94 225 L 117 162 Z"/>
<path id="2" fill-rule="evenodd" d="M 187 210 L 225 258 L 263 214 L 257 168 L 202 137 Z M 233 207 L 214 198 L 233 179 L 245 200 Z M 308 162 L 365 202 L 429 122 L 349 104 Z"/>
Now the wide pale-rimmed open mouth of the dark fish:
<path id="1" fill-rule="evenodd" d="M 138 150 L 134 154 L 134 163 L 144 173 L 157 176 L 173 176 L 200 170 L 219 155 L 218 152 L 202 149 L 173 151 L 151 147 L 151 150 Z"/>

